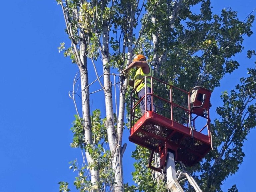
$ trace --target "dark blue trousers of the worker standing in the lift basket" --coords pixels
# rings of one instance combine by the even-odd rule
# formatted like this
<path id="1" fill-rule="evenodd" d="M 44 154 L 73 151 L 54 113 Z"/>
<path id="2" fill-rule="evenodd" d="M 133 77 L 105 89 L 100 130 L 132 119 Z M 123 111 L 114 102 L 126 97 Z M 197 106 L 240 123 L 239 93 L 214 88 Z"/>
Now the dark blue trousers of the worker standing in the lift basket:
<path id="1" fill-rule="evenodd" d="M 146 93 L 151 93 L 151 88 L 146 87 Z M 145 87 L 143 87 L 139 93 L 138 97 L 141 99 L 145 95 Z M 152 110 L 152 105 L 151 105 L 151 95 L 146 95 L 146 105 L 147 105 L 147 111 L 154 111 L 156 112 L 155 105 L 153 104 L 153 110 Z M 145 113 L 145 98 L 140 102 L 140 109 L 141 109 L 141 114 L 143 115 Z"/>

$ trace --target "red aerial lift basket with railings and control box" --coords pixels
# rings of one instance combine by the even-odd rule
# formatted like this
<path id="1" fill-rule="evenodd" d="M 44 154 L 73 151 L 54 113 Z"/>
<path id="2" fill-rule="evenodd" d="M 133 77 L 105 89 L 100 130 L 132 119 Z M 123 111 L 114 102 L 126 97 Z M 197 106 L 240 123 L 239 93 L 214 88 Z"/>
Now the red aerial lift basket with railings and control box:
<path id="1" fill-rule="evenodd" d="M 165 165 L 167 151 L 175 154 L 175 160 L 195 165 L 211 149 L 211 92 L 202 87 L 187 92 L 150 76 L 142 82 L 146 78 L 151 79 L 151 93 L 140 100 L 136 88 L 131 93 L 129 140 L 152 151 L 149 167 L 157 171 Z M 158 91 L 154 92 L 156 86 Z M 147 102 L 146 95 L 151 96 L 151 109 L 154 105 L 156 111 L 149 111 L 145 104 L 146 113 L 141 115 L 139 105 Z M 158 168 L 151 165 L 154 152 L 160 156 Z"/>

